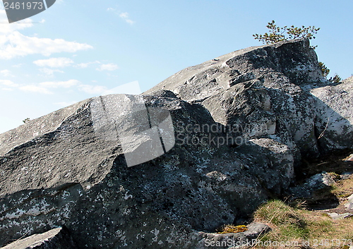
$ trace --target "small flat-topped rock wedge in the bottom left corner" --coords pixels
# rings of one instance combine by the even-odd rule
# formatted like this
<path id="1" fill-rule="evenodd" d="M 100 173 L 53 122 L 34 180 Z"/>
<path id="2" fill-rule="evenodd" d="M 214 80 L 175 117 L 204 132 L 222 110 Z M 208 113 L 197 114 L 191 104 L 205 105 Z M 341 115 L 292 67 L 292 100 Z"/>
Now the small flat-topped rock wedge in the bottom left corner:
<path id="1" fill-rule="evenodd" d="M 57 228 L 15 241 L 1 249 L 78 249 L 66 229 Z"/>

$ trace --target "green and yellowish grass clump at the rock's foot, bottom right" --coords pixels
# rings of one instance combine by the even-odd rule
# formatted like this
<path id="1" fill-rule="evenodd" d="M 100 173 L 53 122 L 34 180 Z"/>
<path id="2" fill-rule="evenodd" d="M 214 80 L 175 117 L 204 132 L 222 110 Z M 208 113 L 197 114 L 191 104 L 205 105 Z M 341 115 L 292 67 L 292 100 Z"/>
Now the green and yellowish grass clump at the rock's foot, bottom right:
<path id="1" fill-rule="evenodd" d="M 272 229 L 258 238 L 261 241 L 298 241 L 300 244 L 306 240 L 353 239 L 353 218 L 334 221 L 323 212 L 290 207 L 281 200 L 271 200 L 261 205 L 253 218 L 255 221 L 268 224 Z M 321 248 L 339 247 L 321 246 Z"/>

